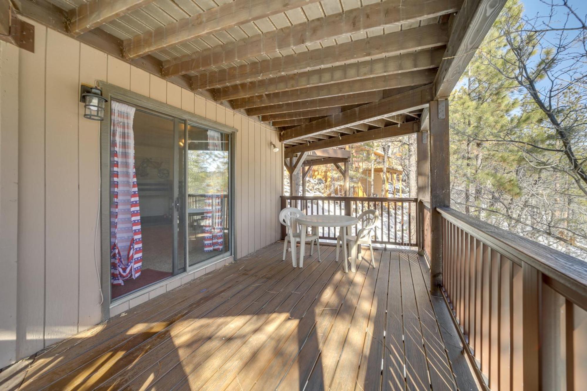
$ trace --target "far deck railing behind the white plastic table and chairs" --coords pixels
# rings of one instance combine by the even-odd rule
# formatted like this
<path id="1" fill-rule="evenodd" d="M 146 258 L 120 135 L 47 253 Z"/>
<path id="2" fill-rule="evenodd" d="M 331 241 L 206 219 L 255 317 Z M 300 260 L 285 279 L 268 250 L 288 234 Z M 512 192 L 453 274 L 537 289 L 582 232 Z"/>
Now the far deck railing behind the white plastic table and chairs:
<path id="1" fill-rule="evenodd" d="M 367 209 L 379 212 L 374 243 L 416 246 L 416 198 L 281 196 L 281 208 L 295 207 L 305 214 L 340 214 L 357 217 Z M 360 228 L 360 227 L 359 227 Z M 354 235 L 357 227 L 352 228 Z M 336 240 L 339 228 L 319 228 L 321 239 Z M 285 227 L 282 226 L 282 239 Z"/>

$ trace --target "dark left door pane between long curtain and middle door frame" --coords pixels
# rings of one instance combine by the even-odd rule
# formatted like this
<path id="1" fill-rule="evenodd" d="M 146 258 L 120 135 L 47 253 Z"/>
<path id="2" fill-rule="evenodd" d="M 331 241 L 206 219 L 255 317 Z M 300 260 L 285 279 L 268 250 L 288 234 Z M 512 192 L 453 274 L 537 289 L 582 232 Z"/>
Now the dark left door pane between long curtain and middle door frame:
<path id="1" fill-rule="evenodd" d="M 133 120 L 134 168 L 142 241 L 140 274 L 112 285 L 112 299 L 177 273 L 174 268 L 174 215 L 177 183 L 177 126 L 174 120 L 137 109 Z M 121 215 L 126 206 L 119 205 Z M 118 224 L 124 224 L 120 221 Z M 134 226 L 133 226 L 134 229 Z M 120 248 L 126 263 L 129 248 Z M 180 267 L 184 267 L 181 264 Z"/>

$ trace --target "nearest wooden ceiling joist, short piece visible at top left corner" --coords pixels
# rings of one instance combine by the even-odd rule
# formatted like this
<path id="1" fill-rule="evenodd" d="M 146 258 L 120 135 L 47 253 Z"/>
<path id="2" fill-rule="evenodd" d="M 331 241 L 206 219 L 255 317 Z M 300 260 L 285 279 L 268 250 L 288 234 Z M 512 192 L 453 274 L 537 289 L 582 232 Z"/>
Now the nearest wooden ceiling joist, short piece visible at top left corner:
<path id="1" fill-rule="evenodd" d="M 77 36 L 120 18 L 154 0 L 90 0 L 70 9 L 69 32 Z"/>

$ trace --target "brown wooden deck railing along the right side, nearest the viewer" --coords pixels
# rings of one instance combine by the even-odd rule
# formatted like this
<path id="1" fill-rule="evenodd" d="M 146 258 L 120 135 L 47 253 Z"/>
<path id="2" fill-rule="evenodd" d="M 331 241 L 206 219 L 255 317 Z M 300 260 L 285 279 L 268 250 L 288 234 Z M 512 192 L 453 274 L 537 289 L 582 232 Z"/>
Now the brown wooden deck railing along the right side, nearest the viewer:
<path id="1" fill-rule="evenodd" d="M 585 387 L 587 262 L 451 208 L 437 211 L 441 291 L 484 387 Z"/>

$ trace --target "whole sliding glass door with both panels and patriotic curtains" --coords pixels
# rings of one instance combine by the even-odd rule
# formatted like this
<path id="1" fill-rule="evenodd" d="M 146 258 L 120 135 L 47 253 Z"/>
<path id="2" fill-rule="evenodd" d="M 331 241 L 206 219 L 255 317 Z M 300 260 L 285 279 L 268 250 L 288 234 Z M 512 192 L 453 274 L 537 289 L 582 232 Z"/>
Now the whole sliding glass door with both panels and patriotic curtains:
<path id="1" fill-rule="evenodd" d="M 111 298 L 230 252 L 231 136 L 113 102 Z M 112 255 L 114 254 L 114 255 Z"/>

